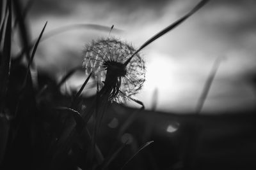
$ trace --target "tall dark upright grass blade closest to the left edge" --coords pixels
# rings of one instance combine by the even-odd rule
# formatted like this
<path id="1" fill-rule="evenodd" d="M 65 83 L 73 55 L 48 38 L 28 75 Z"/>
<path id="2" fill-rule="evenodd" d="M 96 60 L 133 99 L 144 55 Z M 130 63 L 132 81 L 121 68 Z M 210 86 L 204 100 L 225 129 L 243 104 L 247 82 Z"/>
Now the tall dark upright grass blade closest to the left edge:
<path id="1" fill-rule="evenodd" d="M 8 1 L 8 17 L 4 32 L 3 53 L 0 62 L 0 111 L 3 110 L 6 92 L 10 78 L 11 66 L 11 41 L 12 41 L 12 1 Z M 1 51 L 0 51 L 1 52 Z"/>

